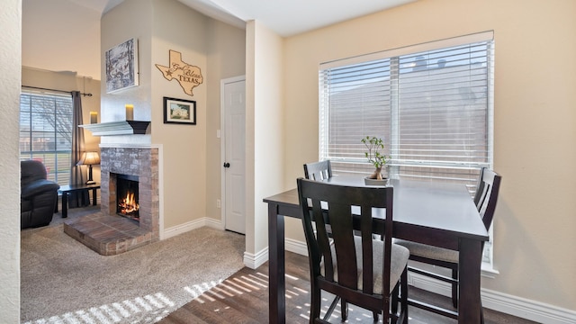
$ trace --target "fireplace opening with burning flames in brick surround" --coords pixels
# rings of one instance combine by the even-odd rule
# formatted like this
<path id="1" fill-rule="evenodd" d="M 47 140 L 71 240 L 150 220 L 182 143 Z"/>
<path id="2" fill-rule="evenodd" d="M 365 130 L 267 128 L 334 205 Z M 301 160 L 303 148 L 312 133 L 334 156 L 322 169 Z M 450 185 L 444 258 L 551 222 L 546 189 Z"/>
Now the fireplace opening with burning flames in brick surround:
<path id="1" fill-rule="evenodd" d="M 116 213 L 138 221 L 138 175 L 116 175 Z"/>

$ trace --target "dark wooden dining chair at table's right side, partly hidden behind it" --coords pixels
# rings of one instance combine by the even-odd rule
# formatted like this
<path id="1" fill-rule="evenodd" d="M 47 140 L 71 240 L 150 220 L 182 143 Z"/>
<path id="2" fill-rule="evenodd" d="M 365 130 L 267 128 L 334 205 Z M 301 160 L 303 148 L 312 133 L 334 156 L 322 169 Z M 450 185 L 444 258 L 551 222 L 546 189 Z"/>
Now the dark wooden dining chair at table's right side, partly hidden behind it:
<path id="1" fill-rule="evenodd" d="M 501 176 L 494 171 L 483 167 L 476 186 L 476 193 L 474 194 L 473 202 L 482 217 L 482 222 L 486 230 L 490 229 L 494 211 L 496 209 L 496 202 L 498 201 L 498 193 L 500 191 Z M 418 261 L 433 266 L 440 266 L 448 268 L 452 271 L 452 276 L 438 275 L 415 266 L 409 266 L 409 271 L 419 274 L 427 275 L 437 280 L 446 282 L 452 285 L 452 302 L 455 308 L 458 307 L 458 251 L 446 249 L 442 247 L 433 247 L 425 244 L 411 242 L 403 239 L 394 239 L 394 243 L 410 250 L 410 260 Z M 428 309 L 428 311 L 437 312 L 452 318 L 457 318 L 455 311 L 441 310 L 437 308 L 428 308 L 422 303 L 414 303 L 414 306 Z M 481 314 L 482 316 L 482 314 Z M 483 318 L 483 317 L 482 317 Z"/>

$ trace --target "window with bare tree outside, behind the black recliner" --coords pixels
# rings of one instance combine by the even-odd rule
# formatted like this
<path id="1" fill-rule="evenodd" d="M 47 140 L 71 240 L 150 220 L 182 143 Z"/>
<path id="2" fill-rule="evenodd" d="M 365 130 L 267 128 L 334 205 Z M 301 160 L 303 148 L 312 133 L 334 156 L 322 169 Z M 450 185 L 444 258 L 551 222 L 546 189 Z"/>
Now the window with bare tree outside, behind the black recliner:
<path id="1" fill-rule="evenodd" d="M 70 178 L 72 112 L 70 95 L 20 94 L 20 158 L 40 160 L 60 185 Z"/>

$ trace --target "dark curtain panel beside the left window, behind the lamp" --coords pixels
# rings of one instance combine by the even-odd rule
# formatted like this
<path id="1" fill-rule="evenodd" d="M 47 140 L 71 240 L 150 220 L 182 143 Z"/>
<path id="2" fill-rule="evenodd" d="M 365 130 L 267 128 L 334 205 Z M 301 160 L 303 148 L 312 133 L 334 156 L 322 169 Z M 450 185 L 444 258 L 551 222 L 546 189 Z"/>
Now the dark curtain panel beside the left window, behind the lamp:
<path id="1" fill-rule="evenodd" d="M 84 129 L 82 125 L 82 98 L 79 91 L 72 91 L 72 155 L 70 158 L 70 185 L 85 184 L 88 175 L 88 166 L 76 166 L 84 153 Z M 71 193 L 68 199 L 68 208 L 87 206 L 90 202 L 88 191 Z"/>

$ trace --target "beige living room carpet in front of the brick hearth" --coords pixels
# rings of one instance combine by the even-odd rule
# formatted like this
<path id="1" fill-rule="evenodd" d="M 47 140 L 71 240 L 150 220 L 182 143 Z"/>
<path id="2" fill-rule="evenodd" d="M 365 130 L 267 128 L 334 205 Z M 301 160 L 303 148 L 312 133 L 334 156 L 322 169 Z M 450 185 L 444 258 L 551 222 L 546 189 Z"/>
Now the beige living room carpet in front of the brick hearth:
<path id="1" fill-rule="evenodd" d="M 153 323 L 243 267 L 235 233 L 204 227 L 103 257 L 54 217 L 22 231 L 23 323 Z"/>

